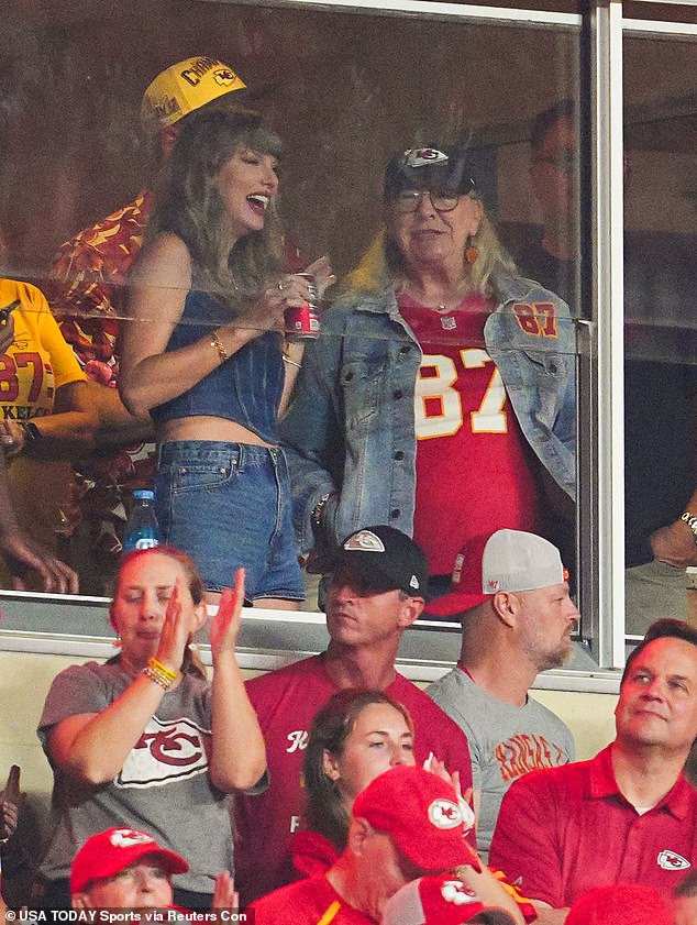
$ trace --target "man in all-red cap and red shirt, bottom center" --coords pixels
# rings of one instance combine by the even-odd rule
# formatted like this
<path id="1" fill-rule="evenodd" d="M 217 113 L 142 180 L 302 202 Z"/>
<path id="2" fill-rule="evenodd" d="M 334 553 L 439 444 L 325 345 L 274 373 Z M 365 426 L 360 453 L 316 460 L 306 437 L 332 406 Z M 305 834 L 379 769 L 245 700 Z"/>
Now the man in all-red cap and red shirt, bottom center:
<path id="1" fill-rule="evenodd" d="M 465 866 L 480 870 L 453 788 L 421 768 L 391 768 L 356 797 L 346 850 L 336 862 L 251 911 L 256 925 L 370 925 L 409 881 Z"/>

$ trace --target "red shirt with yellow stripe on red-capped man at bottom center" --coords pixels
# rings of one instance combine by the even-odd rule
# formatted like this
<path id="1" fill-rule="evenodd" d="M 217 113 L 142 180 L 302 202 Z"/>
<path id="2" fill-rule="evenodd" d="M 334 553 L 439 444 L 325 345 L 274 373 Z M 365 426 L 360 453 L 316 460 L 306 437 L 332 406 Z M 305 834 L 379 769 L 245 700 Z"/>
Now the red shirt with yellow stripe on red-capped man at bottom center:
<path id="1" fill-rule="evenodd" d="M 342 900 L 323 873 L 276 890 L 255 902 L 252 911 L 255 925 L 374 925 L 373 918 Z"/>

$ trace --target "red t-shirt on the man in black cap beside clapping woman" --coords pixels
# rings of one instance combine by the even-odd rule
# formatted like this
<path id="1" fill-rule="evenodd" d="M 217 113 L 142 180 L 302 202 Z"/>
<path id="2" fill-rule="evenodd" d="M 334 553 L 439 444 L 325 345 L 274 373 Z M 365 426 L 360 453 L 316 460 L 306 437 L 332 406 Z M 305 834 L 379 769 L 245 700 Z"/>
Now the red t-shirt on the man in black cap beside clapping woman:
<path id="1" fill-rule="evenodd" d="M 235 887 L 243 906 L 297 878 L 290 836 L 299 828 L 305 810 L 303 752 L 316 713 L 338 690 L 327 674 L 321 656 L 246 683 L 266 741 L 270 783 L 262 794 L 240 794 L 235 799 L 239 833 Z M 462 729 L 401 674 L 397 674 L 385 693 L 411 714 L 417 763 L 422 763 L 432 751 L 451 773 L 460 771 L 463 792 L 472 786 L 469 749 Z M 474 833 L 469 837 L 474 839 Z"/>

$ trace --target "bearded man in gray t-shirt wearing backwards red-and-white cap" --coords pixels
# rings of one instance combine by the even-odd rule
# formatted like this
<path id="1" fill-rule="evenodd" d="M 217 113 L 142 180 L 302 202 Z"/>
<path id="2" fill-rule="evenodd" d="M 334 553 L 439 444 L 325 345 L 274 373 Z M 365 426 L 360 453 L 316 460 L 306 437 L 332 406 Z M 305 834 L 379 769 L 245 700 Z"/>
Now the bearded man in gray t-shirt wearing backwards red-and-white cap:
<path id="1" fill-rule="evenodd" d="M 579 614 L 566 579 L 552 543 L 521 530 L 497 530 L 463 550 L 455 591 L 427 605 L 427 616 L 462 615 L 457 667 L 427 693 L 467 736 L 485 859 L 511 782 L 575 758 L 566 725 L 528 695 L 539 672 L 571 656 Z"/>

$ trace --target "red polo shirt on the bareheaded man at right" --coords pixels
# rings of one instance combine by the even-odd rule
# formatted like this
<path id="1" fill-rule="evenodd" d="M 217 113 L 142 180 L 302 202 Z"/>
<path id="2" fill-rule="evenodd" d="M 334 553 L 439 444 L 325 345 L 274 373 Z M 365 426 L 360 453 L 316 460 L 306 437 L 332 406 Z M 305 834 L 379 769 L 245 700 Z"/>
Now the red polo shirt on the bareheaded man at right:
<path id="1" fill-rule="evenodd" d="M 617 785 L 611 749 L 524 774 L 504 797 L 489 861 L 527 896 L 565 909 L 611 883 L 668 896 L 697 860 L 697 792 L 681 774 L 640 814 Z"/>

